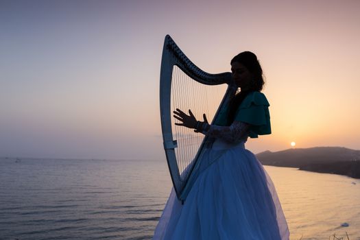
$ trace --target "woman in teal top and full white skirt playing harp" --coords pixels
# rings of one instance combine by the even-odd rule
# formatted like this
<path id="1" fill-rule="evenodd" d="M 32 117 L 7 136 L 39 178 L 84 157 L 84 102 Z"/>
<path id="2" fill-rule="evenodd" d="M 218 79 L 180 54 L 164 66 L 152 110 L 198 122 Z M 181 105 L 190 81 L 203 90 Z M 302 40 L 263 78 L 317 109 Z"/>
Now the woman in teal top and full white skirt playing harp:
<path id="1" fill-rule="evenodd" d="M 263 71 L 250 51 L 232 58 L 232 80 L 241 89 L 214 125 L 177 109 L 187 128 L 215 138 L 204 154 L 187 200 L 171 195 L 154 239 L 289 239 L 289 230 L 274 185 L 254 154 L 245 149 L 250 136 L 270 134 L 269 103 Z"/>

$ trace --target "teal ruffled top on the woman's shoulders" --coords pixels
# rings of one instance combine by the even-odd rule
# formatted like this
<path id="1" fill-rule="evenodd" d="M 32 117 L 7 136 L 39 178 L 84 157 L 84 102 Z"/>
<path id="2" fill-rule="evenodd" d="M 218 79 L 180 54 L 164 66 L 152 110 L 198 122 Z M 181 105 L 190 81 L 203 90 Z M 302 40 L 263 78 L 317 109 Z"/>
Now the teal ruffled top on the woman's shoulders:
<path id="1" fill-rule="evenodd" d="M 234 121 L 250 124 L 250 138 L 271 134 L 269 106 L 269 102 L 263 93 L 249 93 L 237 108 Z M 228 112 L 228 107 L 219 112 L 219 118 L 215 121 L 215 125 L 227 125 Z"/>

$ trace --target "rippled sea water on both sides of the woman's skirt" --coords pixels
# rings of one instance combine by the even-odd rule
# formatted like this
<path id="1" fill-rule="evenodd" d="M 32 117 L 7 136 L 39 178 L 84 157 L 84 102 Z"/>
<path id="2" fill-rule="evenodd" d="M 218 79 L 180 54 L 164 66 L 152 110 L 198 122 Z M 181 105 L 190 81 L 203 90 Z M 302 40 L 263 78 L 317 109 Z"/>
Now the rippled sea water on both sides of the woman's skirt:
<path id="1" fill-rule="evenodd" d="M 360 180 L 265 169 L 291 239 L 360 239 Z M 0 239 L 151 239 L 170 190 L 165 160 L 0 158 Z"/>

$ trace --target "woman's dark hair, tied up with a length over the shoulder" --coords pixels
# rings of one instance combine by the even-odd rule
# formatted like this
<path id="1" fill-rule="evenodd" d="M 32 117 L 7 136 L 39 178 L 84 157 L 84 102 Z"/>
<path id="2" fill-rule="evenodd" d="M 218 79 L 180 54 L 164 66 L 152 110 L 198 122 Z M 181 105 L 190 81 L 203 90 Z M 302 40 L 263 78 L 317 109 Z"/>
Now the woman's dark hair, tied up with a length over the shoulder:
<path id="1" fill-rule="evenodd" d="M 237 93 L 234 97 L 232 97 L 229 106 L 230 109 L 228 113 L 228 125 L 231 125 L 231 123 L 234 121 L 237 108 L 239 108 L 243 99 L 245 99 L 245 97 L 251 92 L 260 92 L 263 90 L 263 86 L 265 84 L 263 79 L 263 69 L 261 69 L 259 60 L 254 53 L 251 51 L 243 51 L 242 53 L 239 53 L 237 56 L 232 58 L 230 64 L 233 62 L 239 62 L 243 64 L 243 66 L 248 69 L 254 78 L 249 90 L 240 91 L 240 93 Z"/>

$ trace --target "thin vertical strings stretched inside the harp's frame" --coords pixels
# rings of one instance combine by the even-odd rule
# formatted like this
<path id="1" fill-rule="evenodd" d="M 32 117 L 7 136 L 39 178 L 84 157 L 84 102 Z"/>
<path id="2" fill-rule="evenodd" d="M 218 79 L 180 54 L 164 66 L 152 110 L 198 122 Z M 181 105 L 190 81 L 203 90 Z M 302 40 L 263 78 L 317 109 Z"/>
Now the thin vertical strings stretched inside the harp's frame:
<path id="1" fill-rule="evenodd" d="M 215 112 L 226 91 L 226 84 L 210 86 L 191 79 L 181 69 L 174 66 L 171 80 L 171 112 L 179 108 L 188 114 L 191 109 L 197 120 L 202 121 L 203 113 L 211 123 Z M 204 135 L 193 132 L 193 129 L 175 125 L 180 122 L 171 118 L 173 136 L 178 141 L 175 149 L 176 160 L 182 179 L 189 174 L 190 165 L 197 154 Z"/>

